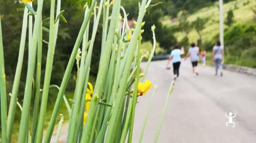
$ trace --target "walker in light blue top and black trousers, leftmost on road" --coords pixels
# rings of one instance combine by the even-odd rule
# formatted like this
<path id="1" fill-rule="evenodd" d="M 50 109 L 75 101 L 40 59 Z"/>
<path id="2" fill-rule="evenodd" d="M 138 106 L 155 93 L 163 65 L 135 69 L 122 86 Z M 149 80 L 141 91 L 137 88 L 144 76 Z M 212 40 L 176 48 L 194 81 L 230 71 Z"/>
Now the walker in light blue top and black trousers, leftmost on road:
<path id="1" fill-rule="evenodd" d="M 179 49 L 179 46 L 175 46 L 174 50 L 172 50 L 172 52 L 170 53 L 169 56 L 169 60 L 167 62 L 167 69 L 169 66 L 170 61 L 172 61 L 173 63 L 173 69 L 174 69 L 174 80 L 177 79 L 177 77 L 179 77 L 179 69 L 180 69 L 180 63 L 181 63 L 181 56 L 184 54 L 184 48 L 181 47 L 181 49 Z"/>

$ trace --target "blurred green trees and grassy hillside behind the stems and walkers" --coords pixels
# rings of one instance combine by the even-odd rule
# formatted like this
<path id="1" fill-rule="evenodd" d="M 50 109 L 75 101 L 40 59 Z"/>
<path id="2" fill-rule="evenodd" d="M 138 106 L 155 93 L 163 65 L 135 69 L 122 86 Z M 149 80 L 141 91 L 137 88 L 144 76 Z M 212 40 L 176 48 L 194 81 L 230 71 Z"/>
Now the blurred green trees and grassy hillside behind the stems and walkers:
<path id="1" fill-rule="evenodd" d="M 129 24 L 133 25 L 138 13 L 138 3 L 140 0 L 122 0 L 122 6 L 129 13 Z M 153 0 L 154 3 L 162 2 L 156 8 L 147 12 L 143 33 L 142 48 L 150 52 L 152 48 L 151 26 L 156 25 L 157 48 L 155 55 L 169 54 L 174 45 L 184 46 L 187 52 L 191 42 L 197 43 L 200 49 L 207 51 L 207 60 L 211 59 L 212 47 L 215 41 L 219 40 L 219 1 L 217 0 Z M 49 17 L 50 0 L 45 0 L 43 9 L 43 19 Z M 65 72 L 73 45 L 80 29 L 85 0 L 66 0 L 61 7 L 66 12 L 63 14 L 68 23 L 61 22 L 58 32 L 57 48 L 55 50 L 52 84 L 60 84 Z M 33 5 L 37 2 L 34 1 Z M 36 6 L 34 6 L 36 7 Z M 225 39 L 225 63 L 256 68 L 256 1 L 255 0 L 224 0 L 224 39 Z M 0 12 L 3 30 L 5 70 L 7 75 L 7 92 L 12 89 L 16 61 L 18 58 L 20 34 L 22 31 L 24 5 L 17 0 L 0 1 Z M 101 20 L 102 21 L 102 20 Z M 49 23 L 45 23 L 49 27 Z M 101 46 L 101 26 L 99 25 L 98 34 L 93 49 L 90 81 L 95 82 L 98 72 Z M 43 34 L 49 37 L 48 33 Z M 43 38 L 45 41 L 49 39 Z M 47 44 L 43 45 L 42 52 L 42 76 L 47 55 Z M 28 49 L 26 49 L 28 50 Z M 27 63 L 28 52 L 25 51 L 24 63 Z M 209 64 L 209 61 L 207 62 Z M 73 75 L 67 91 L 73 92 L 76 82 L 76 67 L 74 66 Z M 20 83 L 20 89 L 25 88 L 27 65 L 24 64 Z M 42 77 L 43 78 L 43 77 Z M 41 81 L 43 82 L 43 81 Z M 22 91 L 22 90 L 20 90 Z M 48 107 L 53 108 L 57 90 L 51 89 Z M 72 97 L 69 92 L 67 98 Z M 24 96 L 20 92 L 18 99 L 22 101 Z M 10 100 L 10 98 L 8 98 Z M 32 99 L 33 100 L 33 99 Z M 9 102 L 8 102 L 9 103 Z M 18 107 L 17 107 L 18 108 Z M 63 104 L 61 109 L 63 114 L 67 111 Z M 20 111 L 16 110 L 16 120 L 20 119 Z M 47 114 L 46 121 L 50 115 Z M 16 123 L 16 130 L 18 128 Z M 14 129 L 15 130 L 15 129 Z M 18 130 L 17 130 L 18 131 Z M 15 137 L 15 136 L 14 136 Z"/>

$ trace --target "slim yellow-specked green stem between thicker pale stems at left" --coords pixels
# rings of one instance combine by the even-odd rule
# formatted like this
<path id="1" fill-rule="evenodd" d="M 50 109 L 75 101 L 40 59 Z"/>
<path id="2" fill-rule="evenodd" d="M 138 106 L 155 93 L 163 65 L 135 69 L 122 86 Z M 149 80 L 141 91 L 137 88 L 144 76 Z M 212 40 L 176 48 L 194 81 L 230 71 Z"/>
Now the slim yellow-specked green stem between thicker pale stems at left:
<path id="1" fill-rule="evenodd" d="M 42 23 L 41 23 L 42 24 Z M 40 83 L 41 83 L 41 58 L 42 58 L 42 25 L 40 26 L 40 35 L 38 37 L 37 47 L 37 69 L 35 81 L 35 99 L 33 108 L 33 122 L 32 122 L 32 135 L 31 142 L 35 141 L 36 127 L 38 122 L 39 100 L 40 100 Z"/>

